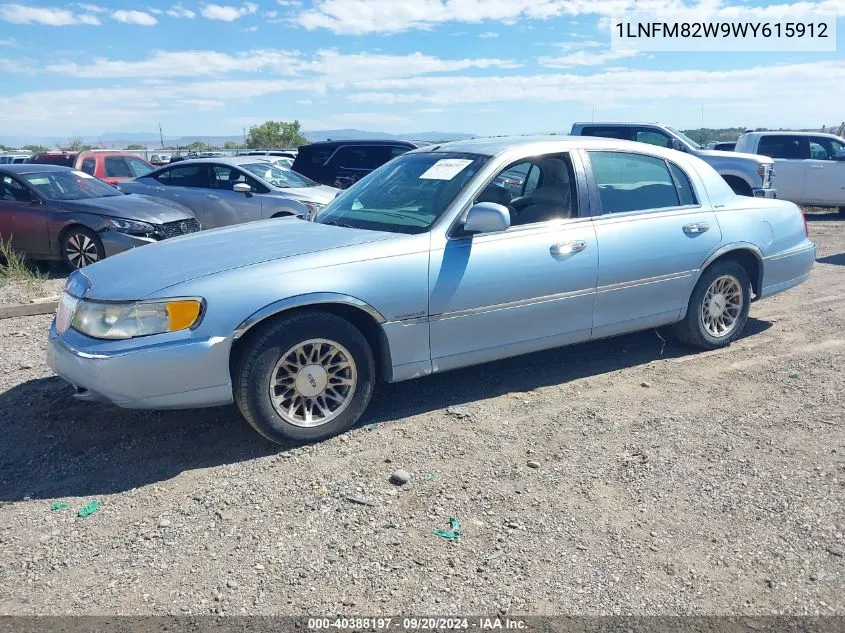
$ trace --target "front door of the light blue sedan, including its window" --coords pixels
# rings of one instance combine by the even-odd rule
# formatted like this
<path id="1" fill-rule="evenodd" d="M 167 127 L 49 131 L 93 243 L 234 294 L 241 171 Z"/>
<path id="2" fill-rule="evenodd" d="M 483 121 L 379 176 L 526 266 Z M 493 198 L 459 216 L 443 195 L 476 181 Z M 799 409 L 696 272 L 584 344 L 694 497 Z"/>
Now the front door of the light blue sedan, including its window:
<path id="1" fill-rule="evenodd" d="M 434 371 L 589 339 L 598 249 L 584 182 L 567 154 L 521 161 L 476 200 L 508 207 L 508 230 L 433 237 L 442 239 L 429 268 Z"/>

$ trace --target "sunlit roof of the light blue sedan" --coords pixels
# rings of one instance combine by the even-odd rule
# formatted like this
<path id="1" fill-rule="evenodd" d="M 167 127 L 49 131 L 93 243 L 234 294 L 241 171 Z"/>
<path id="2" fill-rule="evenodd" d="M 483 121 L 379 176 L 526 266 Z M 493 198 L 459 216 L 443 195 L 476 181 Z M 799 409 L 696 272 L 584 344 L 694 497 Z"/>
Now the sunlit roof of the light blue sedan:
<path id="1" fill-rule="evenodd" d="M 450 143 L 441 143 L 439 145 L 421 147 L 415 149 L 414 154 L 421 154 L 426 152 L 458 152 L 465 154 L 481 154 L 485 156 L 498 156 L 517 147 L 526 147 L 536 145 L 538 151 L 548 152 L 554 149 L 555 146 L 560 147 L 560 151 L 570 149 L 591 149 L 591 148 L 607 148 L 618 147 L 619 149 L 638 150 L 643 151 L 643 143 L 636 143 L 634 141 L 623 141 L 614 138 L 604 138 L 599 136 L 564 136 L 564 135 L 549 135 L 549 136 L 504 136 L 495 138 L 474 138 L 465 141 L 452 141 Z M 542 146 L 542 147 L 540 147 Z M 657 147 L 655 145 L 649 146 L 650 150 L 655 150 L 655 153 L 671 151 L 672 154 L 667 156 L 675 156 L 675 150 L 667 150 Z"/>

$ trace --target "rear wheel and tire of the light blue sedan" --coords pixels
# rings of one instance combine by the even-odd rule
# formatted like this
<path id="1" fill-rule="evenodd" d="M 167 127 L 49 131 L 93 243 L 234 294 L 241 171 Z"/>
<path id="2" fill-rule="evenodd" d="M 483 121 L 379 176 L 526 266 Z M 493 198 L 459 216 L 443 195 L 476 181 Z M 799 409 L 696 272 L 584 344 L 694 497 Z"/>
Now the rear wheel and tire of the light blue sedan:
<path id="1" fill-rule="evenodd" d="M 684 343 L 700 349 L 730 345 L 742 333 L 751 305 L 751 279 L 738 262 L 709 266 L 690 295 L 687 314 L 673 326 Z"/>

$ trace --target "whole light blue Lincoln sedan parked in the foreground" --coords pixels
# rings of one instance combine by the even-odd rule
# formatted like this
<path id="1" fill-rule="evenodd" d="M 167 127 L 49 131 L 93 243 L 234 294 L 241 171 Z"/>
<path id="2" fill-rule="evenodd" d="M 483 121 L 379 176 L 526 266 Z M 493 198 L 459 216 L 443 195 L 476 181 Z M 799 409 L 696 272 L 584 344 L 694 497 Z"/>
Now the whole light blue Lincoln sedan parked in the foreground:
<path id="1" fill-rule="evenodd" d="M 264 437 L 310 442 L 354 425 L 379 381 L 658 326 L 728 345 L 815 251 L 794 204 L 736 196 L 671 149 L 447 143 L 314 221 L 205 231 L 73 273 L 49 362 L 82 399 L 234 400 Z"/>

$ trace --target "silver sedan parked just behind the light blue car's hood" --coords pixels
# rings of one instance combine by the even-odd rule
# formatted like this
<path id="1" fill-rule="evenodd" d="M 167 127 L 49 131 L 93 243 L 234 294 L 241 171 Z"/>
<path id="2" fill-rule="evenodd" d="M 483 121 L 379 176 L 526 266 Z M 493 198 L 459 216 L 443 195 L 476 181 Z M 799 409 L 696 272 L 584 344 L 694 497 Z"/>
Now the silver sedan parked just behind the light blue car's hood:
<path id="1" fill-rule="evenodd" d="M 194 212 L 204 229 L 313 215 L 339 191 L 261 156 L 183 160 L 123 182 L 120 190 L 178 202 Z"/>

